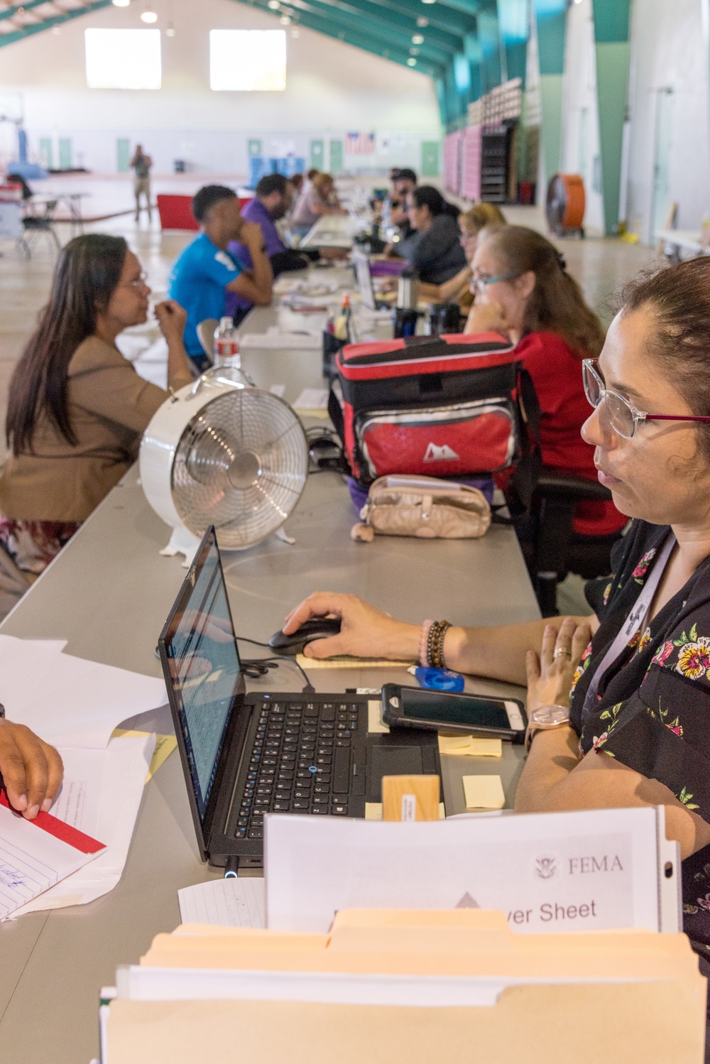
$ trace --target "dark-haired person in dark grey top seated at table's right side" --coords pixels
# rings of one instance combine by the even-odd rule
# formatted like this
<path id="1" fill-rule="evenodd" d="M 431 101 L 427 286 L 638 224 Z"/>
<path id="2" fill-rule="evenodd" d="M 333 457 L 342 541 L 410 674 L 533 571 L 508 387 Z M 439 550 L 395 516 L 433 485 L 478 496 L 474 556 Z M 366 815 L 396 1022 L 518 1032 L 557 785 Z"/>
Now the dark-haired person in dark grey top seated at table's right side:
<path id="1" fill-rule="evenodd" d="M 420 185 L 409 195 L 410 236 L 400 240 L 396 253 L 406 259 L 426 284 L 443 284 L 467 266 L 456 219 L 432 185 Z"/>

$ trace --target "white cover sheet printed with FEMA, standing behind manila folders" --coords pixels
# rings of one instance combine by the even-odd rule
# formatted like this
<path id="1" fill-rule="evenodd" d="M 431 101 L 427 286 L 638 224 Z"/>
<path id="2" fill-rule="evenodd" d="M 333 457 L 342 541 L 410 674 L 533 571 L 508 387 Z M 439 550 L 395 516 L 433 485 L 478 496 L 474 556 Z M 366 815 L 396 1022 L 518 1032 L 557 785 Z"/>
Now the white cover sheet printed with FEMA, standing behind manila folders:
<path id="1" fill-rule="evenodd" d="M 659 824 L 661 827 L 659 828 Z M 267 924 L 325 932 L 341 909 L 498 909 L 521 932 L 677 931 L 662 807 L 377 822 L 265 817 Z M 676 892 L 659 926 L 659 882 Z"/>

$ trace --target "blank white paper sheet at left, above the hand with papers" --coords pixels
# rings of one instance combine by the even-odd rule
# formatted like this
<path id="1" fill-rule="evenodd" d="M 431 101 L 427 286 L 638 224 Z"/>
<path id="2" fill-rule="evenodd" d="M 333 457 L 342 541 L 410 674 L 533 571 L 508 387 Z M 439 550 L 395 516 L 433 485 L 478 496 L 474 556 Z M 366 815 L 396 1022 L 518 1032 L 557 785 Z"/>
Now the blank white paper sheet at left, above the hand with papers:
<path id="1" fill-rule="evenodd" d="M 61 653 L 57 646 L 0 635 L 0 701 L 9 719 L 46 743 L 105 748 L 122 720 L 165 705 L 164 680 Z"/>

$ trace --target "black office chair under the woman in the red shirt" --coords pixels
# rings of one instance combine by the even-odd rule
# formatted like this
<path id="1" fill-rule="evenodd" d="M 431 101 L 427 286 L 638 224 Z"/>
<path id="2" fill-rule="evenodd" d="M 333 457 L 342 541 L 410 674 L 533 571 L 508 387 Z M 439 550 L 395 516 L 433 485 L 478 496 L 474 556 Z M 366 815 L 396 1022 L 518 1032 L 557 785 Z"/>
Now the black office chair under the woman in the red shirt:
<path id="1" fill-rule="evenodd" d="M 532 497 L 537 517 L 534 538 L 522 548 L 543 617 L 557 615 L 557 584 L 568 572 L 593 580 L 611 571 L 611 548 L 618 535 L 572 542 L 577 503 L 609 499 L 611 492 L 598 481 L 542 469 Z"/>

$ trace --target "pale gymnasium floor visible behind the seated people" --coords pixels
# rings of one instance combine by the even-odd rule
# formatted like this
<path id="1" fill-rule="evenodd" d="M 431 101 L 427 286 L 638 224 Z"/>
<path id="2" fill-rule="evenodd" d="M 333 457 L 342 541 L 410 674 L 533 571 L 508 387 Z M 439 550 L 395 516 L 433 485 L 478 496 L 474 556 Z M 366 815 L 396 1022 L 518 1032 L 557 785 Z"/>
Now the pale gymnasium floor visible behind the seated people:
<path id="1" fill-rule="evenodd" d="M 193 174 L 184 177 L 155 178 L 153 192 L 181 192 L 192 194 L 200 185 L 212 181 L 233 184 L 222 178 Z M 386 184 L 385 179 L 370 182 Z M 44 184 L 44 183 L 43 183 Z M 118 214 L 116 217 L 87 225 L 86 231 L 120 234 L 138 254 L 148 273 L 149 284 L 156 296 L 165 293 L 167 277 L 181 249 L 192 238 L 191 233 L 166 233 L 159 229 L 157 212 L 153 212 L 149 225 L 143 212 L 136 223 L 132 211 L 132 182 L 129 178 L 101 178 L 94 176 L 67 176 L 51 178 L 45 190 L 66 189 L 86 192 L 84 214 L 87 217 Z M 546 231 L 544 216 L 538 207 L 506 207 L 509 222 L 530 226 Z M 71 237 L 68 225 L 57 227 L 60 240 L 64 244 Z M 629 245 L 620 239 L 562 240 L 556 242 L 562 251 L 570 272 L 579 281 L 587 300 L 597 314 L 608 322 L 613 315 L 614 296 L 623 284 L 639 270 L 653 267 L 658 262 L 655 252 L 642 245 Z M 7 404 L 7 386 L 13 367 L 24 344 L 30 337 L 37 314 L 41 310 L 49 292 L 55 262 L 53 245 L 45 236 L 35 238 L 32 257 L 27 261 L 22 252 L 10 240 L 0 242 L 0 460 L 6 452 L 4 440 L 4 419 Z M 580 597 L 580 582 L 569 578 L 559 596 L 562 612 L 586 612 Z"/>

